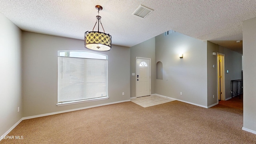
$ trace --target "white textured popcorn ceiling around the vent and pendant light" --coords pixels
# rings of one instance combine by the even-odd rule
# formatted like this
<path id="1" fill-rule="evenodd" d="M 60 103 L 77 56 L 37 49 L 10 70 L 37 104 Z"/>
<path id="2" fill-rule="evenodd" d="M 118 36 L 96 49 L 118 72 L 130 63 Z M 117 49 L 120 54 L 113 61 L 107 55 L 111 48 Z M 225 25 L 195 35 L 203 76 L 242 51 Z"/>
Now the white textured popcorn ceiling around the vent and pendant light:
<path id="1" fill-rule="evenodd" d="M 140 4 L 154 11 L 132 15 Z M 203 41 L 242 40 L 242 21 L 256 17 L 256 0 L 0 0 L 0 12 L 22 30 L 83 40 L 96 5 L 112 44 L 128 47 L 167 30 Z"/>

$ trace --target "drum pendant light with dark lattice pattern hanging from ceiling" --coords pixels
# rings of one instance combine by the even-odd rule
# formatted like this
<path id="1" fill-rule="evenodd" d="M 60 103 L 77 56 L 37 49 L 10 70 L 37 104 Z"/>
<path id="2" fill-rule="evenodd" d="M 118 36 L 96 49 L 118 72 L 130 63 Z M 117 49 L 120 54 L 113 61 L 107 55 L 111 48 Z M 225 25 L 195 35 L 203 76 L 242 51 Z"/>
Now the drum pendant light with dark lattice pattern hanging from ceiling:
<path id="1" fill-rule="evenodd" d="M 98 16 L 96 16 L 97 20 L 91 32 L 87 31 L 84 33 L 84 47 L 90 50 L 96 51 L 108 51 L 111 50 L 111 41 L 112 38 L 110 34 L 106 34 L 105 30 L 101 23 L 101 16 L 99 16 L 99 11 L 102 10 L 102 6 L 95 6 L 98 10 Z M 94 31 L 96 24 L 98 23 L 98 31 Z M 99 26 L 102 26 L 104 32 L 99 32 Z"/>

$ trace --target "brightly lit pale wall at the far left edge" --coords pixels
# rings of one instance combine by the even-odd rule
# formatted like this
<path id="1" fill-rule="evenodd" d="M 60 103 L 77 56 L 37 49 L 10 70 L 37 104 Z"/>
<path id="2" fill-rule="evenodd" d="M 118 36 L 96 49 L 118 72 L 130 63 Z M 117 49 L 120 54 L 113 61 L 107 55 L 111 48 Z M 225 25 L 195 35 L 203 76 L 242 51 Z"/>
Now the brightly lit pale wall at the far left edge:
<path id="1" fill-rule="evenodd" d="M 0 13 L 0 136 L 22 118 L 22 31 Z M 17 112 L 18 106 L 20 112 Z"/>

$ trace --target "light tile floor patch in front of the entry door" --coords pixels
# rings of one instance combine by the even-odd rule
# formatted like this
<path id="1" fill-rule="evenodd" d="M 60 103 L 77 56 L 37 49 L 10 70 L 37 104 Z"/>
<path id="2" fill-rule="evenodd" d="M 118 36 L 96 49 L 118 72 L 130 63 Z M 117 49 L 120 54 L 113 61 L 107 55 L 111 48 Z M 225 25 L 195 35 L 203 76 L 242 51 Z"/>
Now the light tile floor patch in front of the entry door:
<path id="1" fill-rule="evenodd" d="M 139 98 L 132 98 L 131 101 L 134 102 L 135 104 L 138 104 L 146 108 L 148 106 L 155 106 L 158 104 L 163 104 L 163 103 L 171 102 L 174 100 L 163 97 L 163 96 L 153 95 L 153 96 L 142 96 Z"/>

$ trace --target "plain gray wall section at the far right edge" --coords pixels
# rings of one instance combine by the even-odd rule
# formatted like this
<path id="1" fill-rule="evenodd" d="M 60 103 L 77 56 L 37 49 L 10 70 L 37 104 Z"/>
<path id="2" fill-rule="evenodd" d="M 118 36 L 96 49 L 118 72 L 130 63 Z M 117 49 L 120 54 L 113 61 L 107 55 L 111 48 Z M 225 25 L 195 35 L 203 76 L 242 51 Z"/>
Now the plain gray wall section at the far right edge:
<path id="1" fill-rule="evenodd" d="M 243 22 L 244 128 L 256 133 L 256 18 Z"/>

